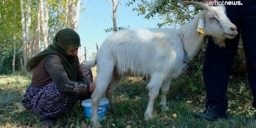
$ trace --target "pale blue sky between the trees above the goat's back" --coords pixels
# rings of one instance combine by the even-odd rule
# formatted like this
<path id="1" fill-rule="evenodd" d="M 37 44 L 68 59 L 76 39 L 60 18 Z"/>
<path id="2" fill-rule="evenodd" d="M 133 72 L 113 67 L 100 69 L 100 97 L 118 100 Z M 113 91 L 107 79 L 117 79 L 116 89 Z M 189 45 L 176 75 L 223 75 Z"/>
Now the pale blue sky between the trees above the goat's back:
<path id="1" fill-rule="evenodd" d="M 125 7 L 131 0 L 121 0 L 121 5 L 117 8 L 117 26 L 132 28 L 156 28 L 156 24 L 161 22 L 159 19 L 143 19 L 144 15 L 137 16 L 137 11 L 132 11 L 137 4 Z M 113 27 L 112 5 L 106 0 L 81 0 L 81 7 L 85 8 L 79 13 L 78 34 L 81 40 L 80 56 L 84 55 L 84 47 L 88 53 L 87 60 L 93 52 L 97 52 L 96 43 L 100 48 L 102 42 L 113 32 L 105 32 L 104 29 Z M 111 16 L 110 16 L 111 15 Z M 82 57 L 84 59 L 84 57 Z"/>

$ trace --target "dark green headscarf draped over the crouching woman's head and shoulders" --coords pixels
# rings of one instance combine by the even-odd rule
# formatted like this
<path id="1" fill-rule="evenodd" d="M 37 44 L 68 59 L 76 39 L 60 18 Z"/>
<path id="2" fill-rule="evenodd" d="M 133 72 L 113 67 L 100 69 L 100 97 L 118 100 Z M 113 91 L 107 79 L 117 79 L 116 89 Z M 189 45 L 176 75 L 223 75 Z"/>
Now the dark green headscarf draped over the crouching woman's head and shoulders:
<path id="1" fill-rule="evenodd" d="M 76 57 L 68 55 L 67 52 L 80 46 L 79 35 L 70 28 L 64 28 L 57 32 L 53 39 L 53 44 L 50 44 L 44 51 L 38 53 L 27 62 L 26 70 L 32 72 L 33 68 L 45 57 L 57 54 L 63 59 L 63 66 L 69 79 L 76 80 Z"/>

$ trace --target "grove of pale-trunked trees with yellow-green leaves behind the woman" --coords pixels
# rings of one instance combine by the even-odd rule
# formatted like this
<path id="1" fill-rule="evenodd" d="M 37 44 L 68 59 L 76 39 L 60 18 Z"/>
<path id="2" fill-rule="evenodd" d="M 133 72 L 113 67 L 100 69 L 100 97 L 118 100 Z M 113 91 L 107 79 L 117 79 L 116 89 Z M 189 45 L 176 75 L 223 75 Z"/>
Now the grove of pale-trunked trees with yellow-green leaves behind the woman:
<path id="1" fill-rule="evenodd" d="M 44 42 L 47 45 L 52 42 L 53 36 L 57 33 L 60 19 L 62 20 L 61 27 L 68 22 L 64 20 L 67 19 L 67 13 L 63 14 L 62 18 L 58 18 L 59 13 L 66 9 L 67 2 L 65 1 L 68 0 L 0 1 L 0 26 L 3 28 L 0 30 L 0 74 L 21 70 L 21 59 L 22 64 L 26 65 L 27 59 L 44 49 Z M 61 5 L 65 7 L 62 10 Z M 48 33 L 46 38 L 40 32 L 43 29 L 40 12 L 44 12 L 46 18 L 43 20 L 46 24 L 44 33 Z M 13 60 L 13 62 L 9 60 Z"/>

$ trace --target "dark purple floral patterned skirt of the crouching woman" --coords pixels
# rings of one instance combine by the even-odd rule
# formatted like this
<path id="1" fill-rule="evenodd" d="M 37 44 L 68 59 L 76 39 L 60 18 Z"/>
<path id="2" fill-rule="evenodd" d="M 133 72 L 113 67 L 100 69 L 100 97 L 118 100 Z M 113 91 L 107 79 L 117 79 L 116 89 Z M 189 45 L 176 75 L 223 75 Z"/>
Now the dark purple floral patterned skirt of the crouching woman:
<path id="1" fill-rule="evenodd" d="M 86 82 L 93 82 L 91 69 L 84 69 Z M 42 88 L 35 88 L 31 84 L 22 99 L 22 105 L 38 115 L 56 117 L 66 113 L 75 106 L 78 100 L 91 98 L 92 93 L 62 93 L 54 82 Z"/>

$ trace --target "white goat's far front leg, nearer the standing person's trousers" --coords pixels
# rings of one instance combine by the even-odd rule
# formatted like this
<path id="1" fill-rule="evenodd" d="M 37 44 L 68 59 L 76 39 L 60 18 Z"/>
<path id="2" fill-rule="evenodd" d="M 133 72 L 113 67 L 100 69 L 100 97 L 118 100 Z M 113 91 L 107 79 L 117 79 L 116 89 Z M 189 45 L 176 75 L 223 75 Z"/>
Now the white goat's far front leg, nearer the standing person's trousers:
<path id="1" fill-rule="evenodd" d="M 166 106 L 166 98 L 170 88 L 170 82 L 171 82 L 171 79 L 166 80 L 163 82 L 163 85 L 162 85 L 162 98 L 160 102 L 160 107 L 162 111 L 169 110 L 168 107 Z"/>

